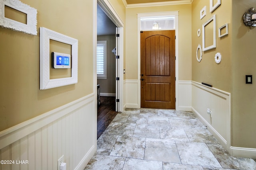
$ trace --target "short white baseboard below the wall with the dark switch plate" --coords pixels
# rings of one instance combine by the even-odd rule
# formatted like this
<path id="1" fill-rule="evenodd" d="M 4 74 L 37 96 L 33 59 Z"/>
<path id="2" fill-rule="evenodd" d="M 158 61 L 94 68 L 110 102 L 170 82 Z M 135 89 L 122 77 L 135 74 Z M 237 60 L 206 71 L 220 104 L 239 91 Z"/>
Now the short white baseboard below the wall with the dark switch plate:
<path id="1" fill-rule="evenodd" d="M 255 148 L 230 147 L 231 155 L 234 157 L 254 158 L 256 159 Z"/>

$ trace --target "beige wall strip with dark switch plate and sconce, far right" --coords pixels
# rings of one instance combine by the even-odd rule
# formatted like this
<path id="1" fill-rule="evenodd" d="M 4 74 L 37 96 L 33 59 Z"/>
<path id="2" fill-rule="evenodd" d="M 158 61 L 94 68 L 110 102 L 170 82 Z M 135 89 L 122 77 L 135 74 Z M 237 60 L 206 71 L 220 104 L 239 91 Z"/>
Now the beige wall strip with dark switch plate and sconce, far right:
<path id="1" fill-rule="evenodd" d="M 256 28 L 242 20 L 256 1 L 233 0 L 232 7 L 232 146 L 256 148 Z M 245 75 L 252 75 L 253 84 L 245 84 Z"/>

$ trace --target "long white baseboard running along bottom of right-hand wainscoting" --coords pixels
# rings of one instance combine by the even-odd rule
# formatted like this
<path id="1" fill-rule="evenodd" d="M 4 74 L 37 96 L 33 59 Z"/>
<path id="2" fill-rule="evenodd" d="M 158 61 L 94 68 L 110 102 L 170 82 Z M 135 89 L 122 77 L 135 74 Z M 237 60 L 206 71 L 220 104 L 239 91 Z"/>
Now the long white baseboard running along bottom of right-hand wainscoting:
<path id="1" fill-rule="evenodd" d="M 220 144 L 226 149 L 228 150 L 228 146 L 227 146 L 227 141 L 212 127 L 212 125 L 210 125 L 205 119 L 204 117 L 202 117 L 198 111 L 196 111 L 193 107 L 192 107 L 192 112 L 196 114 L 196 116 L 198 117 L 198 119 L 200 121 L 202 121 L 202 123 L 204 125 L 207 126 L 207 129 L 212 133 L 212 135 L 220 142 Z"/>

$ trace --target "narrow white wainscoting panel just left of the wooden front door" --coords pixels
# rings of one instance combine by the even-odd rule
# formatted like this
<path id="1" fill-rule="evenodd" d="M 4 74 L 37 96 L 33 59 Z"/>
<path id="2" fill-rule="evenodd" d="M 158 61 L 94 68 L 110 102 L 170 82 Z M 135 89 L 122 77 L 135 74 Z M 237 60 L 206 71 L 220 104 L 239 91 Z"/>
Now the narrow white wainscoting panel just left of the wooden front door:
<path id="1" fill-rule="evenodd" d="M 140 108 L 139 80 L 124 80 L 125 104 L 124 108 Z"/>

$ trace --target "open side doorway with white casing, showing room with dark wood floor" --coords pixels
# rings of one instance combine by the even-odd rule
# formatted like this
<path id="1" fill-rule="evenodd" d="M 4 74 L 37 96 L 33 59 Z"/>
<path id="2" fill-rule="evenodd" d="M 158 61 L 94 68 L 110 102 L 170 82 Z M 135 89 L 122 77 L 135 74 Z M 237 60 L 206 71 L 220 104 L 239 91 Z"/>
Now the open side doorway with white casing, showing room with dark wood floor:
<path id="1" fill-rule="evenodd" d="M 97 139 L 122 111 L 123 32 L 122 22 L 110 4 L 97 4 Z M 117 35 L 118 34 L 118 35 Z"/>

